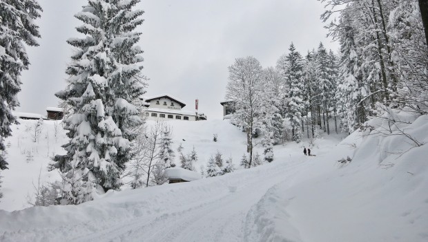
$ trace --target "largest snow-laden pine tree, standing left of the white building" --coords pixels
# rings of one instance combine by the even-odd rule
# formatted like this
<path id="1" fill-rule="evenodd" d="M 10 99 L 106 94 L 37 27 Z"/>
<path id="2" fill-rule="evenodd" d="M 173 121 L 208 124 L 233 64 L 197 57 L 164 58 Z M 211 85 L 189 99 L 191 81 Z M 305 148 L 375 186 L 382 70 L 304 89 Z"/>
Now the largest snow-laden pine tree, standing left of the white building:
<path id="1" fill-rule="evenodd" d="M 64 120 L 70 141 L 63 146 L 66 155 L 55 156 L 53 167 L 64 176 L 72 176 L 72 167 L 86 171 L 79 175 L 81 181 L 104 191 L 121 186 L 120 175 L 132 158 L 130 141 L 141 124 L 132 104 L 145 86 L 142 50 L 136 45 L 141 33 L 135 32 L 143 11 L 133 10 L 138 2 L 89 0 L 75 15 L 84 22 L 77 32 L 86 36 L 68 39 L 77 50 L 66 70 L 68 86 L 56 93 L 70 106 Z"/>

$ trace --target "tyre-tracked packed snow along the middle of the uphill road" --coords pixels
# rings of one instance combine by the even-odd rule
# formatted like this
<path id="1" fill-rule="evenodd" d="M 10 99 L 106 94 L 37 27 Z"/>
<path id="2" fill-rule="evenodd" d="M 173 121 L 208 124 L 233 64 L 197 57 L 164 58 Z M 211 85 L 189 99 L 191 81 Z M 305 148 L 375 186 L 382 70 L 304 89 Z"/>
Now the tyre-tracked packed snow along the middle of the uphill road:
<path id="1" fill-rule="evenodd" d="M 301 162 L 288 163 L 288 165 L 284 165 L 284 169 L 291 171 L 300 165 L 302 165 Z M 261 180 L 260 178 L 253 178 L 253 174 L 246 176 L 245 181 L 247 183 L 244 183 L 245 186 L 240 187 L 239 192 L 226 192 L 223 196 L 208 198 L 206 202 L 197 207 L 191 207 L 180 212 L 162 214 L 152 219 L 137 218 L 126 225 L 117 226 L 113 233 L 109 230 L 108 232 L 99 232 L 91 237 L 96 238 L 98 241 L 115 241 L 116 239 L 118 241 L 143 239 L 146 242 L 243 241 L 245 237 L 244 225 L 253 222 L 246 221 L 247 212 L 251 210 L 251 207 L 258 203 L 260 198 L 271 187 L 287 180 L 290 181 L 298 173 L 288 173 L 288 176 L 284 177 L 280 176 L 284 173 L 282 169 L 275 167 L 271 168 L 271 170 L 273 171 L 269 172 L 269 174 L 262 171 L 257 172 L 257 174 L 264 174 Z M 264 183 L 262 185 L 263 189 L 255 195 L 251 190 L 257 186 L 260 188 L 260 183 Z M 246 207 L 240 207 L 242 206 L 242 202 L 240 202 L 242 201 L 242 196 L 249 196 L 252 199 L 249 200 L 249 205 Z M 235 207 L 231 207 L 234 201 L 236 201 Z M 229 227 L 230 229 L 224 232 Z M 207 234 L 197 233 L 197 235 L 202 235 L 202 238 L 195 237 L 194 232 L 198 230 L 206 231 Z M 234 233 L 233 236 L 231 236 L 231 233 Z M 104 236 L 100 236 L 100 234 L 104 234 Z M 86 239 L 81 241 L 88 241 Z"/>

